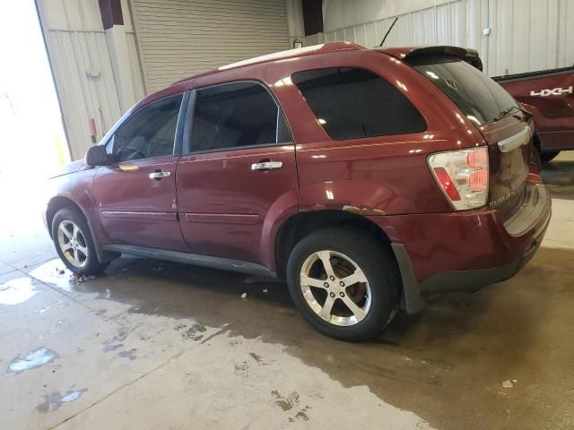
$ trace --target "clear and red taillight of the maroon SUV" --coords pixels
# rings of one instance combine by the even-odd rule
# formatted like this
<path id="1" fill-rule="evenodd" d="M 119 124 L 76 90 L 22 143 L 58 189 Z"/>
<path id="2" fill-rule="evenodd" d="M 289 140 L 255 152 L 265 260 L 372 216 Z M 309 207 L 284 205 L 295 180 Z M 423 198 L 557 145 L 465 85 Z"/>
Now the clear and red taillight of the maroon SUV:
<path id="1" fill-rule="evenodd" d="M 488 198 L 488 149 L 448 150 L 428 158 L 432 175 L 457 211 L 480 208 Z"/>

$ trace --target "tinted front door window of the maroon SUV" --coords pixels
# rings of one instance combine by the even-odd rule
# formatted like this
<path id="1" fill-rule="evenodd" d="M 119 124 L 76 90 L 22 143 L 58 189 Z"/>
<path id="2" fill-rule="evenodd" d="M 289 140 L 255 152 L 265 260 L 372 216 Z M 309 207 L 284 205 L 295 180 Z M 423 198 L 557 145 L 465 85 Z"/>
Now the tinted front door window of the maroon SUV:
<path id="1" fill-rule="evenodd" d="M 114 134 L 114 160 L 132 161 L 172 155 L 182 97 L 158 100 L 130 116 Z"/>

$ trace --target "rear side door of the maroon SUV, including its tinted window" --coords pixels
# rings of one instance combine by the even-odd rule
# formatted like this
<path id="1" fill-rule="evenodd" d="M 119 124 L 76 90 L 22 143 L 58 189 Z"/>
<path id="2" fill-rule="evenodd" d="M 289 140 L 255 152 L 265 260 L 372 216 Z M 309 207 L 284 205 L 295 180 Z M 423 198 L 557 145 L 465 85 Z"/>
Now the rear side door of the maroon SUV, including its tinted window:
<path id="1" fill-rule="evenodd" d="M 196 90 L 178 164 L 178 214 L 193 254 L 264 263 L 269 219 L 297 202 L 295 145 L 283 111 L 259 82 Z M 265 244 L 266 245 L 266 244 Z"/>

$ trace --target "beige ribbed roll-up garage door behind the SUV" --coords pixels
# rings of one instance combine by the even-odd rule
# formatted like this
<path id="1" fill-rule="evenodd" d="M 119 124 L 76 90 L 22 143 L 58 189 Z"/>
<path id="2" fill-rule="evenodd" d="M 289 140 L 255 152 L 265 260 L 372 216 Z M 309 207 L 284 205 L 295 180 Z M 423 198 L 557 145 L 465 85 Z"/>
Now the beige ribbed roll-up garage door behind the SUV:
<path id="1" fill-rule="evenodd" d="M 147 91 L 289 47 L 284 0 L 132 0 Z"/>

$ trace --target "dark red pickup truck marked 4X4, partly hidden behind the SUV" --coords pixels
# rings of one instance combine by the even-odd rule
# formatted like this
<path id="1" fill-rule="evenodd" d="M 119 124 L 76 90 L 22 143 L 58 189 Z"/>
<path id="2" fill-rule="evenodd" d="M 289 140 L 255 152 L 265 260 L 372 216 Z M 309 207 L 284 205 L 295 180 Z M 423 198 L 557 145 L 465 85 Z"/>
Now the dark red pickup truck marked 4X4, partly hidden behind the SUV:
<path id="1" fill-rule="evenodd" d="M 542 163 L 574 150 L 574 65 L 492 78 L 534 116 L 535 149 Z"/>

